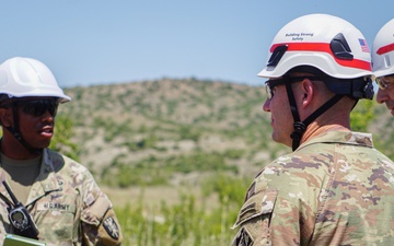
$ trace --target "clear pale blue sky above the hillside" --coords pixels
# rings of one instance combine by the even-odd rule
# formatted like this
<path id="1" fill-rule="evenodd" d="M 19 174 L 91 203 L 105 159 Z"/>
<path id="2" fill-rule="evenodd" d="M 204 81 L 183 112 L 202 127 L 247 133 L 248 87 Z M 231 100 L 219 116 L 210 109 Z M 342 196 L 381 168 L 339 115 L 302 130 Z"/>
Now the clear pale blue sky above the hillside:
<path id="1" fill-rule="evenodd" d="M 392 0 L 3 1 L 0 60 L 42 60 L 62 87 L 163 77 L 257 85 L 268 46 L 289 21 L 337 15 L 371 47 L 393 7 Z"/>

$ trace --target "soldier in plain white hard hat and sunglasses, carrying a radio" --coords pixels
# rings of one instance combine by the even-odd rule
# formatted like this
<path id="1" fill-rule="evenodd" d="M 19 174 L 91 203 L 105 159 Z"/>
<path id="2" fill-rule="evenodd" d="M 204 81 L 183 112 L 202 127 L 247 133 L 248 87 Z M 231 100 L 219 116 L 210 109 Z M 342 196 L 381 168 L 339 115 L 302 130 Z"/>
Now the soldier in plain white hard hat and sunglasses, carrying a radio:
<path id="1" fill-rule="evenodd" d="M 0 184 L 0 245 L 5 234 L 25 232 L 10 223 L 8 207 L 13 204 L 7 184 L 38 230 L 31 237 L 49 246 L 121 243 L 113 204 L 91 173 L 47 149 L 58 104 L 69 101 L 38 60 L 15 57 L 0 66 L 0 181 L 5 181 Z"/>

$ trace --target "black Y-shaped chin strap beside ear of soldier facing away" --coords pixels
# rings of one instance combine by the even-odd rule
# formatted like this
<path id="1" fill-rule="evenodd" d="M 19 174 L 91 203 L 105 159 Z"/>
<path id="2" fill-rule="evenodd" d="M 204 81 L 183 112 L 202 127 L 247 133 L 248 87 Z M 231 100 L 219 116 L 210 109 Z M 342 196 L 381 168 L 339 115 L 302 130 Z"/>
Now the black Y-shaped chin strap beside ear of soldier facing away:
<path id="1" fill-rule="evenodd" d="M 320 108 L 317 108 L 312 115 L 310 115 L 304 121 L 300 120 L 300 115 L 297 109 L 297 104 L 294 99 L 294 94 L 291 89 L 291 83 L 288 81 L 286 83 L 286 91 L 289 97 L 290 110 L 292 117 L 294 119 L 294 131 L 290 134 L 292 141 L 292 151 L 296 151 L 299 148 L 302 134 L 305 132 L 306 127 L 315 120 L 318 116 L 321 116 L 324 112 L 331 108 L 334 104 L 336 104 L 344 95 L 336 94 L 331 99 L 328 99 L 325 104 L 323 104 Z"/>

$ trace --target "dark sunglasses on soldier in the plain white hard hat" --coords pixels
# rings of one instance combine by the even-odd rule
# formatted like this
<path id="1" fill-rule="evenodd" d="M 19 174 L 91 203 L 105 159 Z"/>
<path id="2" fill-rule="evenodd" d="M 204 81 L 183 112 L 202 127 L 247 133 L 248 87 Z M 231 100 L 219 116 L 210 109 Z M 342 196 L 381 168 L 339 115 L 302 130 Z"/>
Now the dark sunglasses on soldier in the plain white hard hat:
<path id="1" fill-rule="evenodd" d="M 59 102 L 56 99 L 34 99 L 34 101 L 16 101 L 14 106 L 20 106 L 22 112 L 27 115 L 39 117 L 46 112 L 55 117 L 59 106 Z"/>

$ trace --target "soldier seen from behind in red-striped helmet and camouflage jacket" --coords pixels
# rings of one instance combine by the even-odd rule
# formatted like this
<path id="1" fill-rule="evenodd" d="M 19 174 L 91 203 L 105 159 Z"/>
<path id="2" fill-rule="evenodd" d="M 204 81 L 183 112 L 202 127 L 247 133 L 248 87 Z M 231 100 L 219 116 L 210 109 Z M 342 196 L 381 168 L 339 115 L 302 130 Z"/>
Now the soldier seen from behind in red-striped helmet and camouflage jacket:
<path id="1" fill-rule="evenodd" d="M 350 130 L 373 97 L 363 35 L 328 14 L 285 25 L 269 49 L 263 109 L 293 152 L 266 165 L 245 196 L 232 245 L 394 245 L 394 163 Z"/>

